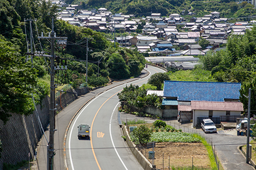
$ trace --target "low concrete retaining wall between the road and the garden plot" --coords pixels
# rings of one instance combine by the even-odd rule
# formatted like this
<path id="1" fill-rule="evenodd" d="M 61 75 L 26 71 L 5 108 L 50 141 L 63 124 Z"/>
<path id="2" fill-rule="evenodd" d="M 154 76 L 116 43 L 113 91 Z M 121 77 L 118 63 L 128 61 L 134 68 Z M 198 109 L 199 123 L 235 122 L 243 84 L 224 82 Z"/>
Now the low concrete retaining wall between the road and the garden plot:
<path id="1" fill-rule="evenodd" d="M 145 170 L 154 170 L 154 168 L 152 168 L 151 163 L 136 148 L 134 143 L 131 142 L 131 138 L 129 136 L 129 132 L 127 131 L 126 126 L 122 126 L 122 133 L 124 134 L 124 136 L 126 136 L 126 143 L 127 143 L 128 147 L 130 147 L 130 150 L 131 150 L 132 154 L 134 154 L 134 157 L 140 163 L 141 167 L 144 168 Z"/>

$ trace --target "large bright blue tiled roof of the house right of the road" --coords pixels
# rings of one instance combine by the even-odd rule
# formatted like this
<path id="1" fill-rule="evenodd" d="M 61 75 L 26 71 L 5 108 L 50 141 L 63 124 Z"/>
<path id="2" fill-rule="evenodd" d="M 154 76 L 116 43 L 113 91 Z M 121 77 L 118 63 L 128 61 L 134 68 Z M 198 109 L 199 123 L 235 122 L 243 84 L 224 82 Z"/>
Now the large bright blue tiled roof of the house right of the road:
<path id="1" fill-rule="evenodd" d="M 224 101 L 239 99 L 240 88 L 240 83 L 164 81 L 164 97 L 178 97 L 178 101 Z"/>

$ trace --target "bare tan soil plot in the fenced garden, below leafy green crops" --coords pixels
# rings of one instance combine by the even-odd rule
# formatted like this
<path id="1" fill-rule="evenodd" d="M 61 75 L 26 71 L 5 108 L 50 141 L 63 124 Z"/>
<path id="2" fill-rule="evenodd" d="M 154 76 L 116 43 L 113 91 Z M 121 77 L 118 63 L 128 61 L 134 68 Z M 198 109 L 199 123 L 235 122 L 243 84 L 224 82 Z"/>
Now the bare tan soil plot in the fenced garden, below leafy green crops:
<path id="1" fill-rule="evenodd" d="M 143 154 L 152 163 L 149 151 L 152 148 L 146 149 Z M 198 168 L 210 169 L 208 152 L 202 143 L 156 143 L 154 151 L 157 169 L 169 169 L 169 160 L 170 167 L 192 167 L 193 164 Z"/>

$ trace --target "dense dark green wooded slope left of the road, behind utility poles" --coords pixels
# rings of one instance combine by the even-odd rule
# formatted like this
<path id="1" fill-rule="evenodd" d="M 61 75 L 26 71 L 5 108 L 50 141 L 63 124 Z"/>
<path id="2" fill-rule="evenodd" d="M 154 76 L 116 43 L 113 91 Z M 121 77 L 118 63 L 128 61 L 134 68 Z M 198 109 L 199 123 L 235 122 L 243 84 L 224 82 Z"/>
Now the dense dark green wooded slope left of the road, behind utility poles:
<path id="1" fill-rule="evenodd" d="M 56 84 L 71 84 L 73 88 L 81 84 L 101 86 L 109 83 L 110 79 L 135 77 L 144 68 L 144 56 L 137 50 L 114 45 L 104 33 L 57 20 L 57 6 L 50 2 L 3 0 L 0 2 L 0 14 L 0 120 L 4 123 L 11 116 L 8 112 L 32 114 L 35 104 L 40 104 L 50 91 L 46 83 L 50 80 L 50 59 L 35 55 L 32 64 L 31 56 L 26 54 L 31 50 L 31 35 L 25 18 L 33 20 L 30 25 L 33 51 L 51 55 L 50 43 L 46 39 L 39 41 L 37 37 L 41 32 L 44 35 L 51 32 L 52 17 L 57 37 L 67 37 L 65 48 L 55 44 L 56 65 L 67 62 L 68 68 L 65 73 L 58 73 L 60 76 L 56 74 Z M 85 76 L 87 52 L 88 84 Z"/>

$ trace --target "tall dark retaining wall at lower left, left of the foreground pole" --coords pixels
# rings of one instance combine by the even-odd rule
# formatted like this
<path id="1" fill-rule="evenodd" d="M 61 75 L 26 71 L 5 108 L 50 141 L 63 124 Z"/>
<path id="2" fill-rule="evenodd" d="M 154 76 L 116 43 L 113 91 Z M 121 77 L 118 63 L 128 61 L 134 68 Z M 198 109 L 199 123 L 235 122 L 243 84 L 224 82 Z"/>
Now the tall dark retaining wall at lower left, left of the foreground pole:
<path id="1" fill-rule="evenodd" d="M 6 125 L 0 121 L 0 138 L 2 142 L 2 157 L 0 158 L 0 169 L 3 163 L 16 164 L 23 160 L 32 159 L 38 141 L 43 135 L 38 117 L 42 127 L 46 129 L 49 122 L 49 97 L 46 97 L 41 105 L 37 105 L 37 112 L 32 115 L 22 116 L 12 114 Z"/>

